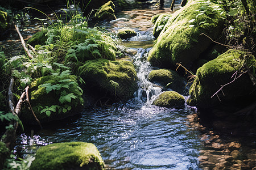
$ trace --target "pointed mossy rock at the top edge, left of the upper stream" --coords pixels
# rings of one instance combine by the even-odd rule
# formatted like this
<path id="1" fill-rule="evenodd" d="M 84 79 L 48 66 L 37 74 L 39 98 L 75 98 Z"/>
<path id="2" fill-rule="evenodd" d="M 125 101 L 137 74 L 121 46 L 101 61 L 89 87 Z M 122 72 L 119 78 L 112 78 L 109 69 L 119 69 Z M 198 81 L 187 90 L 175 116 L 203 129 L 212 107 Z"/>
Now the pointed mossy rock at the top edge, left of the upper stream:
<path id="1" fill-rule="evenodd" d="M 94 18 L 97 20 L 114 20 L 117 19 L 115 17 L 115 11 L 114 11 L 115 5 L 112 1 L 109 1 L 102 5 L 96 14 L 94 15 Z"/>

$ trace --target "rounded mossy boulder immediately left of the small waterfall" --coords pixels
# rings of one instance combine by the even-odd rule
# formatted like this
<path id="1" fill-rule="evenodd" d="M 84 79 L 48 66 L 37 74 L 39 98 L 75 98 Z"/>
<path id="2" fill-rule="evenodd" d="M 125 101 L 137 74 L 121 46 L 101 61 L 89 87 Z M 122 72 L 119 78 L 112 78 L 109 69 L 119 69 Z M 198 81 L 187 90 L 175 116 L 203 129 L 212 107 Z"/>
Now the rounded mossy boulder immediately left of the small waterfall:
<path id="1" fill-rule="evenodd" d="M 93 96 L 126 100 L 138 89 L 137 74 L 129 61 L 95 59 L 80 66 L 78 73 Z"/>

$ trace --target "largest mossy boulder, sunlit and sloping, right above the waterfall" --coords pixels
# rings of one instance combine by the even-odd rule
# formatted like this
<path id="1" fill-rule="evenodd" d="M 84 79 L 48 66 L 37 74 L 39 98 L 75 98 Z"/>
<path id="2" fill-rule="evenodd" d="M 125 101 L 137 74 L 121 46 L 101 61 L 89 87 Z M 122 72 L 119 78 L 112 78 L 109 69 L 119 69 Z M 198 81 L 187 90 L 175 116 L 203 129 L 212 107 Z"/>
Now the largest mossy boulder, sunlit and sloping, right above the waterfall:
<path id="1" fill-rule="evenodd" d="M 164 28 L 161 26 L 164 18 L 158 18 L 160 25 L 156 24 L 155 30 L 162 31 L 148 54 L 148 61 L 157 67 L 172 68 L 176 63 L 188 67 L 212 44 L 201 33 L 216 39 L 222 31 L 224 16 L 224 10 L 216 3 L 195 0 L 189 1 L 170 19 L 166 15 L 168 22 Z"/>

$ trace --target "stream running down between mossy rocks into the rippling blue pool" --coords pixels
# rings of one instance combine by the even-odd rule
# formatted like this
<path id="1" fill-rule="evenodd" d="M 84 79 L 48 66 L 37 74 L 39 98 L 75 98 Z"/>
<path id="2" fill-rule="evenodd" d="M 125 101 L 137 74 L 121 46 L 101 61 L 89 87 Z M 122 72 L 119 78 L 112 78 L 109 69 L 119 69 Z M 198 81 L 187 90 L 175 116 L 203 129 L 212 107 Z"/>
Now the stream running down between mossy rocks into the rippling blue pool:
<path id="1" fill-rule="evenodd" d="M 111 107 L 85 109 L 78 116 L 49 124 L 42 130 L 27 130 L 18 137 L 15 154 L 25 158 L 35 154 L 36 148 L 51 143 L 90 142 L 100 151 L 106 169 L 201 169 L 210 166 L 200 165 L 199 156 L 205 152 L 220 158 L 225 155 L 226 148 L 207 146 L 205 141 L 212 146 L 219 135 L 214 138 L 216 141 L 210 140 L 216 134 L 199 124 L 195 108 L 185 105 L 183 109 L 169 109 L 151 105 L 163 91 L 147 79 L 150 71 L 155 69 L 147 62 L 148 51 L 154 44 L 150 19 L 159 12 L 170 12 L 168 4 L 163 10 L 149 7 L 121 11 L 117 20 L 100 23 L 110 32 L 120 28 L 137 31 L 137 36 L 121 43 L 127 49 L 137 51 L 127 58 L 134 63 L 138 76 L 139 88 L 133 99 Z M 28 27 L 27 34 L 32 33 L 31 29 L 34 28 Z M 239 143 L 238 138 L 220 140 L 222 142 L 217 142 L 220 145 Z M 255 146 L 255 141 L 250 139 L 243 151 L 254 154 Z M 241 151 L 241 148 L 240 145 L 238 149 Z M 211 160 L 214 156 L 208 157 Z M 214 158 L 211 162 L 221 161 Z"/>

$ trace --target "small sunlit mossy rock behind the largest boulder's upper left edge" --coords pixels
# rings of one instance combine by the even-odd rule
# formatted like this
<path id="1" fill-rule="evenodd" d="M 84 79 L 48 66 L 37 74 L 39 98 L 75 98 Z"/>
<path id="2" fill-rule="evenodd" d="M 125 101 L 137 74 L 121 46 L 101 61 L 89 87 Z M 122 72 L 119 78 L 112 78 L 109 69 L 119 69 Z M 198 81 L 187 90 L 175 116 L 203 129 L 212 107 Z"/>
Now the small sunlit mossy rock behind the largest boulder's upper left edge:
<path id="1" fill-rule="evenodd" d="M 160 32 L 163 30 L 168 20 L 171 18 L 172 14 L 160 14 L 155 21 L 155 26 L 153 29 L 153 35 L 157 38 Z M 154 18 L 152 18 L 154 19 Z M 154 19 L 155 20 L 155 19 Z"/>

